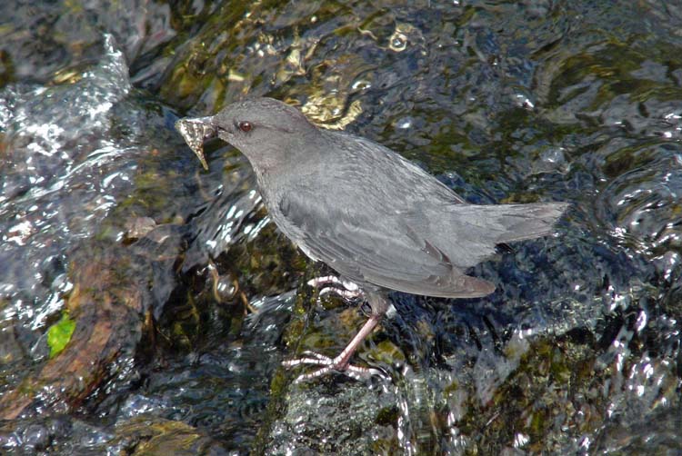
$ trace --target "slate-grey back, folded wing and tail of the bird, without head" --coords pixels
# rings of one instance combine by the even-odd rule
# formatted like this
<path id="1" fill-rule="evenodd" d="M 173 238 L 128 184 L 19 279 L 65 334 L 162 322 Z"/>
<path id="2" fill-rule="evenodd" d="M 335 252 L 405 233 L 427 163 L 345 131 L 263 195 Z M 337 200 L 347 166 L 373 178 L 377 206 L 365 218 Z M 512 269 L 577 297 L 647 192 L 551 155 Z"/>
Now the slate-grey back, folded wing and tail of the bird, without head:
<path id="1" fill-rule="evenodd" d="M 443 297 L 494 290 L 464 270 L 497 243 L 547 234 L 563 203 L 474 205 L 386 147 L 324 132 L 325 165 L 297 175 L 276 222 L 308 256 L 349 279 Z"/>

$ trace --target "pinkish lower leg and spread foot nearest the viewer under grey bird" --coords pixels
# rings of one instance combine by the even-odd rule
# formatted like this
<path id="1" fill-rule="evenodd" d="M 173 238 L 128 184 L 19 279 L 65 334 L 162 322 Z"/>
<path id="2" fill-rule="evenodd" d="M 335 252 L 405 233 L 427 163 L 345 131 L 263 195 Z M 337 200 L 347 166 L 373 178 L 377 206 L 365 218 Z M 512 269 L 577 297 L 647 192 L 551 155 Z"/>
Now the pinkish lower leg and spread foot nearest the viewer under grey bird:
<path id="1" fill-rule="evenodd" d="M 328 279 L 328 277 L 325 277 L 323 279 Z M 336 277 L 334 277 L 334 279 L 336 279 Z M 336 281 L 338 281 L 338 279 L 336 279 Z M 334 281 L 327 281 L 327 283 L 329 282 Z M 304 358 L 290 360 L 282 363 L 287 368 L 299 366 L 302 364 L 322 366 L 320 369 L 314 372 L 299 375 L 294 381 L 295 383 L 315 379 L 317 377 L 326 375 L 327 373 L 330 372 L 343 372 L 349 377 L 352 377 L 356 380 L 367 379 L 370 378 L 372 375 L 384 377 L 384 372 L 381 372 L 378 369 L 359 367 L 350 364 L 350 359 L 356 352 L 357 348 L 360 346 L 362 342 L 365 341 L 366 337 L 369 334 L 371 334 L 372 331 L 374 331 L 376 325 L 378 324 L 378 322 L 381 321 L 381 318 L 384 316 L 386 310 L 388 309 L 388 302 L 386 302 L 386 299 L 383 298 L 382 296 L 379 296 L 375 293 L 371 293 L 367 296 L 367 298 L 368 298 L 367 301 L 369 302 L 372 308 L 372 313 L 369 316 L 369 319 L 366 321 L 366 323 L 363 325 L 360 331 L 356 333 L 356 336 L 353 338 L 353 340 L 351 340 L 351 342 L 349 342 L 348 345 L 346 345 L 346 348 L 342 352 L 340 352 L 338 356 L 336 356 L 336 358 L 329 358 L 328 356 L 316 352 L 306 351 L 303 352 L 303 354 L 306 355 Z"/>

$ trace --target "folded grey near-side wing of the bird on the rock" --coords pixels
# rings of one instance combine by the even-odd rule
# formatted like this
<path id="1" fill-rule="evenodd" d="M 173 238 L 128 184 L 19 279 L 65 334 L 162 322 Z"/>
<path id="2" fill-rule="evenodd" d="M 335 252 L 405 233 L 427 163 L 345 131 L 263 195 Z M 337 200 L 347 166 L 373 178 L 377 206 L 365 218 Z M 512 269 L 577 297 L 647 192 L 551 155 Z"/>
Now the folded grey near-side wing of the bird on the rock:
<path id="1" fill-rule="evenodd" d="M 438 297 L 480 297 L 492 283 L 457 268 L 446 253 L 406 224 L 405 214 L 367 212 L 359 201 L 300 188 L 278 205 L 286 232 L 309 256 L 351 280 L 400 292 Z M 339 199 L 342 200 L 342 199 Z M 343 204 L 343 205 L 342 205 Z"/>

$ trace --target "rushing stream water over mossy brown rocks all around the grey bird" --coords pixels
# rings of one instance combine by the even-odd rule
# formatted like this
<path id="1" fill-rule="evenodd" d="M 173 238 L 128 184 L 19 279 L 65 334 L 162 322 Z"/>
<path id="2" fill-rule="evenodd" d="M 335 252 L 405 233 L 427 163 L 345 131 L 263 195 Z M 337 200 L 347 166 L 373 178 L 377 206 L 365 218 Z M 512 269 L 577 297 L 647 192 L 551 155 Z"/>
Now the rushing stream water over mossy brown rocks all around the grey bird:
<path id="1" fill-rule="evenodd" d="M 682 452 L 676 3 L 0 18 L 0 452 Z M 473 203 L 571 209 L 475 268 L 485 299 L 392 296 L 356 355 L 386 379 L 294 384 L 283 359 L 335 355 L 364 316 L 316 303 L 324 268 L 277 233 L 240 154 L 208 144 L 204 173 L 172 129 L 245 95 L 386 144 Z"/>

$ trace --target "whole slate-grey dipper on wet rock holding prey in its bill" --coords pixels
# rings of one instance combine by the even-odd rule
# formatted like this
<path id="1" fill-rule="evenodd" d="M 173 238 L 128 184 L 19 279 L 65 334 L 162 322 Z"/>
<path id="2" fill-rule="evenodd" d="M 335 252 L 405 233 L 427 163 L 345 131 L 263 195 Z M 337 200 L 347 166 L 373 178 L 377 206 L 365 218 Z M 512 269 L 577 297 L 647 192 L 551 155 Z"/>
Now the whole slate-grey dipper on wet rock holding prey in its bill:
<path id="1" fill-rule="evenodd" d="M 543 236 L 567 203 L 469 204 L 399 154 L 366 138 L 317 128 L 295 107 L 272 98 L 230 104 L 210 117 L 181 119 L 176 129 L 207 167 L 203 143 L 219 137 L 234 145 L 256 173 L 277 227 L 313 261 L 340 278 L 310 284 L 341 285 L 362 296 L 371 314 L 336 358 L 308 352 L 286 366 L 354 378 L 378 373 L 349 364 L 390 304 L 388 290 L 443 298 L 478 298 L 493 283 L 465 274 L 496 252 L 496 244 Z"/>

